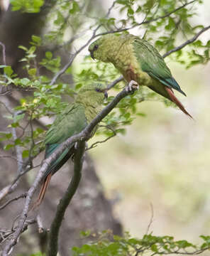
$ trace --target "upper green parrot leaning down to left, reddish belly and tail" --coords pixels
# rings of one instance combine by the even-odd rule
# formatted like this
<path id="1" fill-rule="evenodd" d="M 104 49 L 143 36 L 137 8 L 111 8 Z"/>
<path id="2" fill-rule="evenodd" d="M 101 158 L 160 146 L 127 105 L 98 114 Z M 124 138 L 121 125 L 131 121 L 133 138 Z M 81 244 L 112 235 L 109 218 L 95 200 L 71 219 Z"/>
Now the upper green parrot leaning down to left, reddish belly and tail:
<path id="1" fill-rule="evenodd" d="M 138 85 L 148 86 L 192 117 L 172 89 L 183 95 L 185 93 L 172 77 L 160 53 L 148 41 L 131 34 L 108 34 L 94 41 L 88 50 L 93 59 L 112 63 L 128 82 L 135 81 Z"/>

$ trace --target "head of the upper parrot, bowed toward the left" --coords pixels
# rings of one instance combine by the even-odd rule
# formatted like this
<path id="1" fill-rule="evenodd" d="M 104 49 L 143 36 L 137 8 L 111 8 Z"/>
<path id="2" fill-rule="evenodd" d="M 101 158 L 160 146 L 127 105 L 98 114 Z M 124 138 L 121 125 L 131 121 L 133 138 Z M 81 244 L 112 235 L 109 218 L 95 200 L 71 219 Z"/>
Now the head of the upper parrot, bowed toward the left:
<path id="1" fill-rule="evenodd" d="M 117 50 L 119 41 L 121 36 L 116 34 L 101 36 L 89 46 L 88 50 L 93 59 L 111 62 L 111 56 Z"/>

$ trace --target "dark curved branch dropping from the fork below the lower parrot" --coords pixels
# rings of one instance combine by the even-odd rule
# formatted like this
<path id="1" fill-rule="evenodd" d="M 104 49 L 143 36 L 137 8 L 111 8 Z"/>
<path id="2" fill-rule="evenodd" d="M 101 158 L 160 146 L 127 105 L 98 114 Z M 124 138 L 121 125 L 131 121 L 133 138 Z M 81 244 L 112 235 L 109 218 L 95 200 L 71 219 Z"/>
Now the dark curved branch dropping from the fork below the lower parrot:
<path id="1" fill-rule="evenodd" d="M 67 206 L 72 201 L 74 193 L 76 193 L 77 188 L 79 186 L 79 181 L 82 176 L 82 164 L 83 159 L 82 156 L 84 154 L 85 142 L 79 142 L 76 153 L 74 154 L 74 174 L 70 185 L 67 188 L 64 196 L 60 200 L 59 205 L 57 206 L 57 211 L 55 213 L 55 218 L 52 220 L 52 224 L 50 227 L 50 235 L 49 235 L 49 245 L 48 245 L 48 256 L 56 256 L 58 250 L 58 235 L 60 226 L 62 224 L 62 220 L 65 215 L 65 210 Z"/>

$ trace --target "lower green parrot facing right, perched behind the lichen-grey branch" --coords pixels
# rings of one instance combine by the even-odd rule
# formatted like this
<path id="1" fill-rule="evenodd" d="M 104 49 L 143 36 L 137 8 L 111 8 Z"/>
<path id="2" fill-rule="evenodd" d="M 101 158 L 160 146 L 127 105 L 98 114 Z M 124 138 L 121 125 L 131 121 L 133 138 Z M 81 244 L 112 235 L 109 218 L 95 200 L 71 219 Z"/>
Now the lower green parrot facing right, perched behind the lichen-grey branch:
<path id="1" fill-rule="evenodd" d="M 45 159 L 57 149 L 62 142 L 74 134 L 82 132 L 89 122 L 96 117 L 102 109 L 104 96 L 107 92 L 101 85 L 84 85 L 78 92 L 74 103 L 67 105 L 65 110 L 57 115 L 45 137 Z M 96 129 L 94 130 L 96 132 Z M 94 132 L 92 136 L 94 135 Z M 50 178 L 74 154 L 74 144 L 60 154 L 46 170 L 43 185 L 40 188 L 38 199 L 33 208 L 43 201 Z"/>

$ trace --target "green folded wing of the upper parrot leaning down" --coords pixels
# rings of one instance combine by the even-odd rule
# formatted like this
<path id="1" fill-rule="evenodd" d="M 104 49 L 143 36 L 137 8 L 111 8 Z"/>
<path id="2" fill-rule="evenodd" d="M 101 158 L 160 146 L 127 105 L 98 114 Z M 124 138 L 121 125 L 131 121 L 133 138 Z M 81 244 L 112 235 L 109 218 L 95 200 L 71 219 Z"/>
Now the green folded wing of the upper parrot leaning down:
<path id="1" fill-rule="evenodd" d="M 133 50 L 143 72 L 159 80 L 163 85 L 173 88 L 185 95 L 175 78 L 172 77 L 172 73 L 170 69 L 167 68 L 165 60 L 148 41 L 136 38 L 133 41 Z"/>

